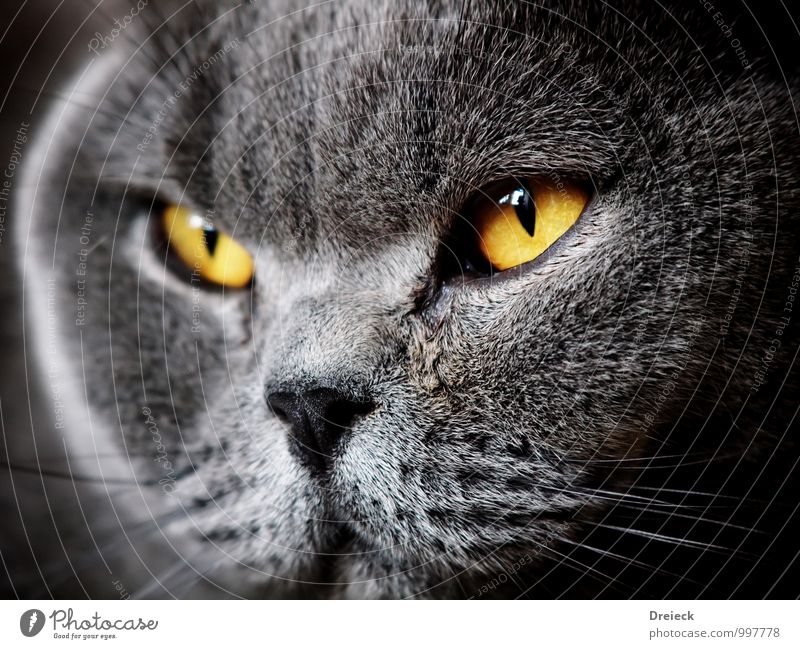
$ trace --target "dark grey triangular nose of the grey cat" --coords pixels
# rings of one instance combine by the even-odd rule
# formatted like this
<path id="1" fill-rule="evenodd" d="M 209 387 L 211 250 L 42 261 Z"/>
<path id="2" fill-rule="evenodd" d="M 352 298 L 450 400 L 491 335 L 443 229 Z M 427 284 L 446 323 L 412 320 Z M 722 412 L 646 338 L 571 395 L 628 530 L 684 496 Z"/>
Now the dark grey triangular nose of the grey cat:
<path id="1" fill-rule="evenodd" d="M 292 452 L 310 468 L 321 471 L 330 466 L 355 420 L 375 407 L 369 400 L 357 400 L 333 388 L 269 392 L 266 396 L 275 415 L 291 429 Z"/>

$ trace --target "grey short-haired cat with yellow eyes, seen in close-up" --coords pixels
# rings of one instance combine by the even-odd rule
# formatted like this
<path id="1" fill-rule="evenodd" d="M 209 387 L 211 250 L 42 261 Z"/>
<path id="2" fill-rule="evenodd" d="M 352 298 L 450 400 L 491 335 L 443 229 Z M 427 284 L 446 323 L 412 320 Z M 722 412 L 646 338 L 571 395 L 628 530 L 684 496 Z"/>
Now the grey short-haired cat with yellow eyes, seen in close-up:
<path id="1" fill-rule="evenodd" d="M 798 76 L 708 5 L 120 10 L 17 191 L 14 594 L 800 595 Z"/>

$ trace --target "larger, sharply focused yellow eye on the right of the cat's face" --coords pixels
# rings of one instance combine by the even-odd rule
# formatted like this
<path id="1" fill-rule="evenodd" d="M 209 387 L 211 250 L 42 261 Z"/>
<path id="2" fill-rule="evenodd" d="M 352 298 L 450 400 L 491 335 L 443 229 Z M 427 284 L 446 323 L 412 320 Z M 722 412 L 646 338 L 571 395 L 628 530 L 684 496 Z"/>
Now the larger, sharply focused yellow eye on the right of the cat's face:
<path id="1" fill-rule="evenodd" d="M 578 220 L 589 200 L 574 183 L 530 179 L 502 186 L 475 207 L 481 254 L 495 269 L 532 261 Z"/>

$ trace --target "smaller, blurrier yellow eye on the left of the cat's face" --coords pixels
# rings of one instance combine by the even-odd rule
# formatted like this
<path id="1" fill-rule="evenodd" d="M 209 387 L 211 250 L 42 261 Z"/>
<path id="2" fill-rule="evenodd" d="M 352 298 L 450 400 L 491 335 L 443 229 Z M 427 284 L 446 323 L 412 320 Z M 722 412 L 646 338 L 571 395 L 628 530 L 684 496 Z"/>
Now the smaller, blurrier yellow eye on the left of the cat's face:
<path id="1" fill-rule="evenodd" d="M 192 274 L 230 288 L 242 288 L 253 278 L 253 258 L 227 234 L 185 207 L 171 205 L 161 221 L 172 250 Z"/>

